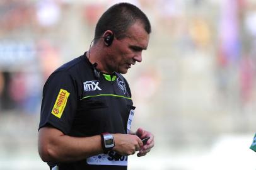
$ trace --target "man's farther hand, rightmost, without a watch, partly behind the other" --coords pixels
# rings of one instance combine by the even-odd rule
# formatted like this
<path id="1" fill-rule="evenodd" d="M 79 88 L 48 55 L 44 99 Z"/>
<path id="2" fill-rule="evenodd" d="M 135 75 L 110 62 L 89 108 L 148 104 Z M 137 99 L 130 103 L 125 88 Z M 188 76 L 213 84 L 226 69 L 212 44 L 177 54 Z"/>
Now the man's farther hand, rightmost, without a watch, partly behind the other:
<path id="1" fill-rule="evenodd" d="M 143 128 L 138 128 L 136 135 L 140 139 L 144 139 L 146 137 L 150 137 L 148 142 L 146 142 L 143 147 L 139 150 L 139 153 L 137 153 L 137 156 L 146 156 L 146 154 L 151 150 L 152 147 L 154 147 L 154 135 L 146 130 L 143 130 Z"/>

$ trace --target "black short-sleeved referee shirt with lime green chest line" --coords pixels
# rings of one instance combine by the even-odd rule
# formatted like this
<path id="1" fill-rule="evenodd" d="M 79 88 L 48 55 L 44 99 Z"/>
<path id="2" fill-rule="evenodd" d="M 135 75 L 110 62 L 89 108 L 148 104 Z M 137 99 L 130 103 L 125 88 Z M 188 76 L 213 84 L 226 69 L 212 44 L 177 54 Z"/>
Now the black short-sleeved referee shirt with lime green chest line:
<path id="1" fill-rule="evenodd" d="M 135 108 L 129 85 L 121 74 L 99 73 L 86 55 L 54 71 L 45 82 L 39 128 L 50 125 L 72 137 L 128 133 Z M 48 163 L 60 170 L 127 169 L 127 157 L 113 151 L 78 162 Z"/>

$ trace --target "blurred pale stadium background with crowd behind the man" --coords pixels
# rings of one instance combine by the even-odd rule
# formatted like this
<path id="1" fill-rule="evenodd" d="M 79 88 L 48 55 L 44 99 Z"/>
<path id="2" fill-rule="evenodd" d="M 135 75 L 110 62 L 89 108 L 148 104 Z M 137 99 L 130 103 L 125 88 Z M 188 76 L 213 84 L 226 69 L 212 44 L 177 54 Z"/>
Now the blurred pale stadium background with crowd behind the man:
<path id="1" fill-rule="evenodd" d="M 42 88 L 90 48 L 114 0 L 0 1 L 0 169 L 47 169 L 37 153 Z M 155 135 L 129 169 L 254 169 L 256 1 L 134 0 L 151 21 L 143 62 L 125 74 L 132 128 Z"/>

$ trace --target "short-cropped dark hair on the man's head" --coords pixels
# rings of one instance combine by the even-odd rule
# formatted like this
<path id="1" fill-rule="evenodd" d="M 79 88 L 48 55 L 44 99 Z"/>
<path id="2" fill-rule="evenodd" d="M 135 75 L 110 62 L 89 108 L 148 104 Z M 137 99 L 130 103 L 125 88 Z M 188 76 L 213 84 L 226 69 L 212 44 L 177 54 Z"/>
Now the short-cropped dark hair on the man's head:
<path id="1" fill-rule="evenodd" d="M 143 24 L 144 30 L 151 33 L 151 25 L 146 14 L 133 4 L 119 3 L 111 6 L 102 14 L 95 28 L 95 41 L 107 30 L 113 31 L 115 37 L 125 37 L 125 32 L 136 21 Z"/>

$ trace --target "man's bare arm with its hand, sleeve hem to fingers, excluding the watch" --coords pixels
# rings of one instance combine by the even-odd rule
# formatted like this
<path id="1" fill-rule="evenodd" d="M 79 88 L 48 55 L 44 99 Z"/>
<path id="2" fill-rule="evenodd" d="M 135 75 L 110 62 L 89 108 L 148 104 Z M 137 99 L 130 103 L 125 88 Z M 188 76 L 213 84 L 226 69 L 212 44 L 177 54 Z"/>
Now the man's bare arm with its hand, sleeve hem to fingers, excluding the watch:
<path id="1" fill-rule="evenodd" d="M 54 127 L 42 127 L 38 133 L 38 151 L 45 162 L 73 162 L 103 153 L 100 135 L 71 137 Z M 113 134 L 115 150 L 122 156 L 134 154 L 143 143 L 136 135 Z"/>

